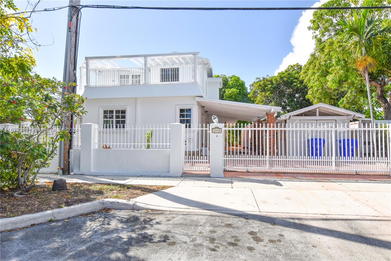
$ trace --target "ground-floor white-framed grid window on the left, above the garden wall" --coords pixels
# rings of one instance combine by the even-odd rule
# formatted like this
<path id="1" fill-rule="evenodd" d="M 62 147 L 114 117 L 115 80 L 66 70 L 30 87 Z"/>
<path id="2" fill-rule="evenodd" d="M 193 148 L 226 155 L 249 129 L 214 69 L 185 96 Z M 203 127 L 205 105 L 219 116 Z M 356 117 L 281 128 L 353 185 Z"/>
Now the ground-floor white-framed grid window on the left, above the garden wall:
<path id="1" fill-rule="evenodd" d="M 126 108 L 101 108 L 103 129 L 124 129 L 126 125 Z"/>

